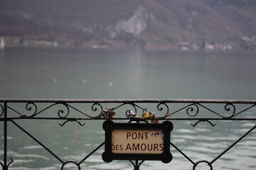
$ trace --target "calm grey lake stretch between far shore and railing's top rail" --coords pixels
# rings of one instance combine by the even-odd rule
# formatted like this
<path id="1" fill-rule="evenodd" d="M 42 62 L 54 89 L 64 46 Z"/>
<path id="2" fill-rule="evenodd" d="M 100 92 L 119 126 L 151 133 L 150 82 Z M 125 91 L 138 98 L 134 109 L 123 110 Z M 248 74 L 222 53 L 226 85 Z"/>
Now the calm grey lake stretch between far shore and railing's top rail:
<path id="1" fill-rule="evenodd" d="M 253 54 L 4 52 L 4 98 L 256 98 Z"/>

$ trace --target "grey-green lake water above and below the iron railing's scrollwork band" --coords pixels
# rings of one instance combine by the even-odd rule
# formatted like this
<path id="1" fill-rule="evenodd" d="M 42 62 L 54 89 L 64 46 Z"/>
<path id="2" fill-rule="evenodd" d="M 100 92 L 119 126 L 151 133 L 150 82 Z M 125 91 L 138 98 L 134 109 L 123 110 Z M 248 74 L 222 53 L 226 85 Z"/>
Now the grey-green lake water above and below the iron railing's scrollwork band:
<path id="1" fill-rule="evenodd" d="M 0 98 L 256 100 L 255 52 L 74 49 L 6 49 L 0 52 Z M 245 117 L 255 118 L 255 111 L 255 108 L 250 109 Z M 55 121 L 45 120 L 18 123 L 64 160 L 79 162 L 104 141 L 102 121 L 87 121 L 82 128 L 77 123 L 60 127 Z M 220 122 L 214 128 L 199 123 L 193 128 L 190 123 L 174 121 L 171 139 L 194 162 L 210 162 L 255 125 L 253 121 L 235 121 Z M 0 125 L 3 127 L 4 123 Z M 8 159 L 14 159 L 9 169 L 60 169 L 58 160 L 11 123 L 9 134 Z M 2 128 L 0 137 L 2 162 Z M 133 169 L 128 161 L 103 162 L 103 149 L 101 147 L 81 164 L 81 168 Z M 174 156 L 171 163 L 144 162 L 141 169 L 192 169 L 191 162 L 175 149 L 171 148 L 171 153 Z M 213 169 L 256 169 L 255 160 L 254 130 L 214 162 Z"/>

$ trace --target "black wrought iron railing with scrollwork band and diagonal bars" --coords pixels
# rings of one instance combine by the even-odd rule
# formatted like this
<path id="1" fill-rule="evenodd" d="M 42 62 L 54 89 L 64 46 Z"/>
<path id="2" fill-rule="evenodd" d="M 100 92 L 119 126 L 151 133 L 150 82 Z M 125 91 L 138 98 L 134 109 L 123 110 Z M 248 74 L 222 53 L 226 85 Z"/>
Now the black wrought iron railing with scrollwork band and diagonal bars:
<path id="1" fill-rule="evenodd" d="M 82 106 L 87 111 L 81 109 Z M 111 106 L 111 107 L 110 107 Z M 218 107 L 217 107 L 218 106 Z M 218 108 L 218 109 L 216 109 Z M 17 123 L 17 120 L 58 120 L 62 127 L 66 123 L 75 122 L 79 125 L 85 125 L 85 120 L 106 120 L 114 121 L 127 120 L 127 123 L 150 123 L 150 120 L 157 122 L 161 120 L 169 121 L 190 121 L 193 127 L 198 123 L 205 122 L 210 126 L 215 126 L 218 121 L 253 121 L 252 127 L 241 137 L 233 142 L 223 152 L 218 154 L 213 160 L 201 160 L 194 162 L 185 152 L 170 141 L 172 148 L 183 155 L 188 162 L 191 162 L 191 169 L 195 170 L 198 164 L 208 164 L 209 169 L 213 169 L 213 163 L 223 156 L 228 150 L 233 148 L 240 140 L 255 130 L 256 120 L 256 101 L 234 101 L 234 100 L 43 100 L 43 99 L 1 99 L 0 100 L 0 123 L 4 123 L 4 150 L 3 157 L 0 159 L 0 167 L 7 170 L 11 167 L 15 159 L 8 160 L 8 128 L 9 123 L 15 125 L 26 135 L 41 145 L 55 159 L 60 162 L 61 170 L 66 164 L 75 164 L 78 169 L 80 165 L 86 162 L 92 154 L 100 147 L 105 145 L 102 141 L 95 147 L 90 154 L 83 157 L 79 162 L 65 161 L 51 149 L 46 147 L 43 142 L 31 135 L 25 128 Z M 54 113 L 53 110 L 54 109 Z M 252 117 L 246 116 L 247 113 Z M 46 116 L 46 113 L 50 113 Z M 148 113 L 142 118 L 142 113 Z M 174 125 L 175 128 L 175 125 Z M 174 157 L 175 159 L 175 157 Z M 144 160 L 129 160 L 134 169 L 139 169 Z"/>

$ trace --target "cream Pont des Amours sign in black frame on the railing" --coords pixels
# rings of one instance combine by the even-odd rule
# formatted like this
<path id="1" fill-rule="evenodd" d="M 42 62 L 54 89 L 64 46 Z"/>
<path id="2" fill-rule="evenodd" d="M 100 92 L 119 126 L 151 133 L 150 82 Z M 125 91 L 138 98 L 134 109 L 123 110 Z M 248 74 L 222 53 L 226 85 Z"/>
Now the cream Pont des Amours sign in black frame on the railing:
<path id="1" fill-rule="evenodd" d="M 102 159 L 112 160 L 161 160 L 171 162 L 170 132 L 174 125 L 165 121 L 161 124 L 114 123 L 106 120 L 105 152 Z"/>

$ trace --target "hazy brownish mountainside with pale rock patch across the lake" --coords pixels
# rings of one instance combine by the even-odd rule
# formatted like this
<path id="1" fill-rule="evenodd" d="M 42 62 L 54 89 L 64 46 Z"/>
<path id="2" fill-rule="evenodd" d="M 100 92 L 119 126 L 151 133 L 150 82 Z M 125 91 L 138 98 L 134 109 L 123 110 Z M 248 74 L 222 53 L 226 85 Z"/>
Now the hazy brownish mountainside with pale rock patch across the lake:
<path id="1" fill-rule="evenodd" d="M 0 37 L 58 45 L 183 50 L 256 46 L 255 0 L 1 0 L 0 18 Z"/>

